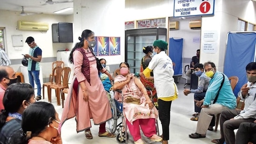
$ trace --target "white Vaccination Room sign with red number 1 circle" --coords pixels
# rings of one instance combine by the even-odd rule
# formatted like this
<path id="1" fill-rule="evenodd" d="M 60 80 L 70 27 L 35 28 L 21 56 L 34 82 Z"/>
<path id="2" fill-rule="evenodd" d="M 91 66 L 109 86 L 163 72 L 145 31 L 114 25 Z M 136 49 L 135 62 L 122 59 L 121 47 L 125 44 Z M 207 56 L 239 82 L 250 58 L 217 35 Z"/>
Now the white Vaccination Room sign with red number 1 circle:
<path id="1" fill-rule="evenodd" d="M 214 14 L 215 0 L 174 0 L 174 17 Z"/>

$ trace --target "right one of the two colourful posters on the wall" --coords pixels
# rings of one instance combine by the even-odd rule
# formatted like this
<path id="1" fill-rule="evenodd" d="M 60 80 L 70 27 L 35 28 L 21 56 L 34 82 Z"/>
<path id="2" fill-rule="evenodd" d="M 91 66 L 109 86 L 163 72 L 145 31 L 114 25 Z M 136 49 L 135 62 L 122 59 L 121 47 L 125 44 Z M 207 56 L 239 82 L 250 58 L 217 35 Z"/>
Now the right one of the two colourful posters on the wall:
<path id="1" fill-rule="evenodd" d="M 110 37 L 110 55 L 120 55 L 120 37 Z"/>

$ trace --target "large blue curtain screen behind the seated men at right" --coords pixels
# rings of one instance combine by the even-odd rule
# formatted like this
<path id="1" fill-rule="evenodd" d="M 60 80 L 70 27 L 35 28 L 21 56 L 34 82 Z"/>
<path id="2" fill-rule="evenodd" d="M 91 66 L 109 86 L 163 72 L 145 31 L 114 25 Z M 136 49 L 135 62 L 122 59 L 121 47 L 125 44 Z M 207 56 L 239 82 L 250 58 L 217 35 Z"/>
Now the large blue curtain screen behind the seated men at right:
<path id="1" fill-rule="evenodd" d="M 256 33 L 228 34 L 228 44 L 224 61 L 224 74 L 237 76 L 239 81 L 234 94 L 240 91 L 247 82 L 245 67 L 249 62 L 255 62 Z"/>

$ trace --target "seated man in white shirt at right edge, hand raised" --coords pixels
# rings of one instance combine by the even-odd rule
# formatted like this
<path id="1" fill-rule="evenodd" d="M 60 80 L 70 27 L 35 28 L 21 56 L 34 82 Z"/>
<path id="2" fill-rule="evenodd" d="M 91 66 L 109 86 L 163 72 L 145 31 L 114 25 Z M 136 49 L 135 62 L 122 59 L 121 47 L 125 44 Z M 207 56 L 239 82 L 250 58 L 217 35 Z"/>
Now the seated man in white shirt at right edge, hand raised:
<path id="1" fill-rule="evenodd" d="M 221 138 L 213 139 L 215 144 L 235 144 L 235 129 L 239 128 L 242 122 L 252 123 L 256 119 L 256 62 L 250 62 L 246 66 L 247 84 L 242 86 L 238 93 L 241 100 L 244 100 L 243 110 L 223 110 L 221 112 Z"/>

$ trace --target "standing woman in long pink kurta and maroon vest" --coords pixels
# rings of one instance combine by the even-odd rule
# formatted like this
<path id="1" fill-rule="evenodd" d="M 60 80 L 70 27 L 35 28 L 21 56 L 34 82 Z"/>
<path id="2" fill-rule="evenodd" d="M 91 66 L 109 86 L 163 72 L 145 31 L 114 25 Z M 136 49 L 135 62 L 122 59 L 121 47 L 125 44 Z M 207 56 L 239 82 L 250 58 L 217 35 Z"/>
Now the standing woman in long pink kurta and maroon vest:
<path id="1" fill-rule="evenodd" d="M 98 76 L 96 58 L 91 48 L 96 44 L 94 33 L 86 29 L 79 40 L 80 42 L 76 43 L 69 56 L 69 62 L 75 66 L 75 74 L 60 125 L 76 117 L 76 131 L 85 130 L 85 137 L 92 139 L 90 132 L 90 119 L 92 118 L 95 125 L 100 125 L 99 137 L 115 137 L 105 130 L 106 121 L 111 119 L 112 114 L 109 99 Z M 106 69 L 100 72 L 108 75 L 111 80 L 113 79 Z"/>

